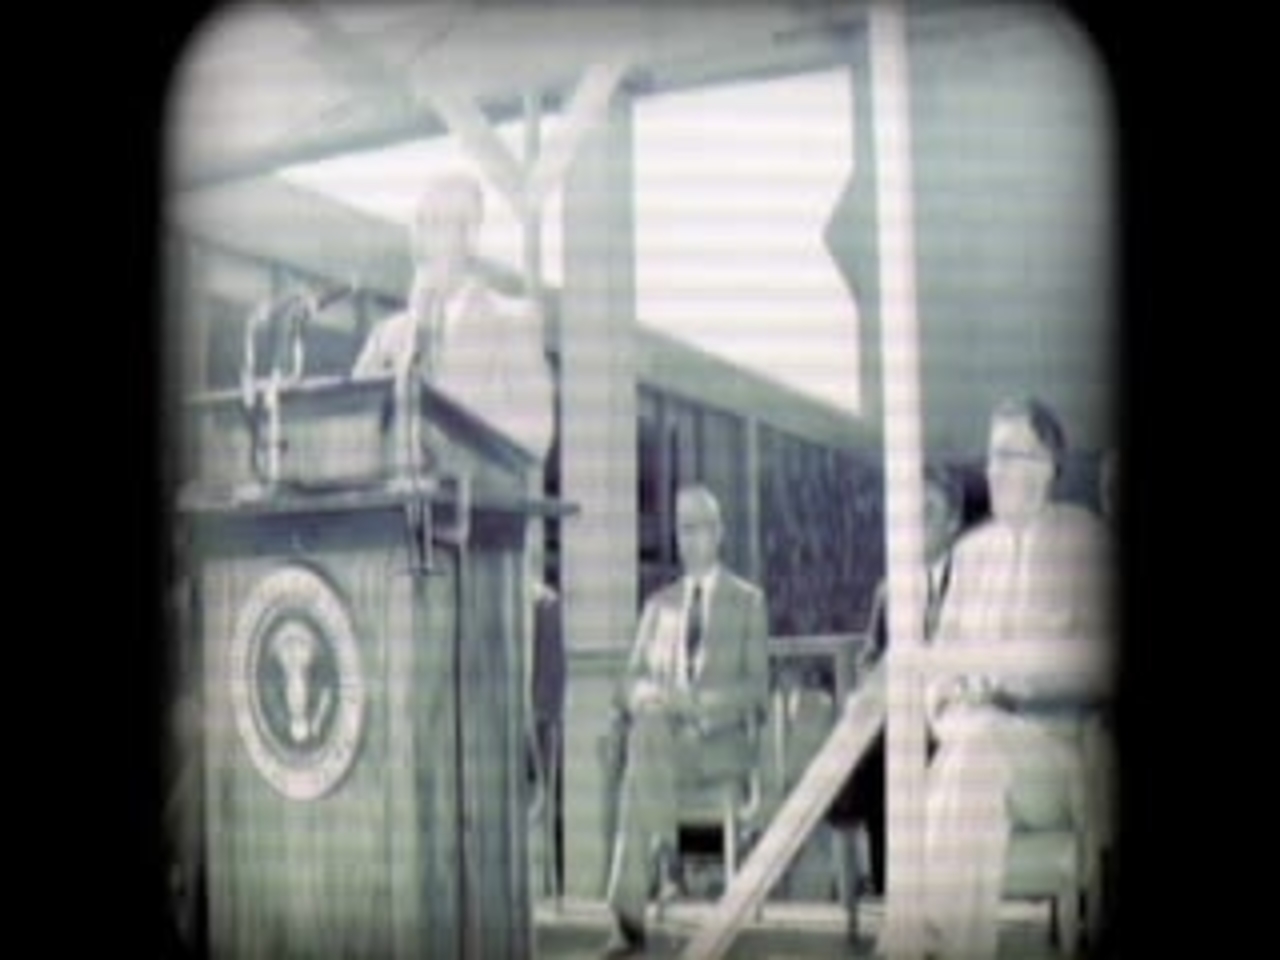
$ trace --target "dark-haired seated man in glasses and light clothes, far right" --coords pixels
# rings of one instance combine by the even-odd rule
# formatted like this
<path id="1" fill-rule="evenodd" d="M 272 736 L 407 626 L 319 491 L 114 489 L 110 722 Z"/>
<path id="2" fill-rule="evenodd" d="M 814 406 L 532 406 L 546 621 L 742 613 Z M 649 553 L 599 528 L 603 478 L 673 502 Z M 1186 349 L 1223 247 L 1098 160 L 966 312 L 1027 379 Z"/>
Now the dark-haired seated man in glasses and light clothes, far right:
<path id="1" fill-rule="evenodd" d="M 993 660 L 1105 664 L 1107 532 L 1053 503 L 1065 436 L 1038 401 L 996 407 L 987 451 L 992 517 L 960 539 L 934 648 Z M 1083 657 L 1082 657 L 1083 654 Z M 927 690 L 938 741 L 925 786 L 925 915 L 943 956 L 995 956 L 1010 833 L 1084 813 L 1079 722 L 1106 678 L 942 676 Z"/>

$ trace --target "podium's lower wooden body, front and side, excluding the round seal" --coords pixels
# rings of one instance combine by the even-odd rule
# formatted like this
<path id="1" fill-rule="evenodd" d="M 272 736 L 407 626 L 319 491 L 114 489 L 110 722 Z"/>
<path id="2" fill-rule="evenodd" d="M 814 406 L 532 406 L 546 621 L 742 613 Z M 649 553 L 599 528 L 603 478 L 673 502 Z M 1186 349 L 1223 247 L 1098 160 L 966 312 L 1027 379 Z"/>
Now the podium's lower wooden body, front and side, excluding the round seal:
<path id="1" fill-rule="evenodd" d="M 260 517 L 212 539 L 205 531 L 215 955 L 530 955 L 516 617 L 522 525 L 488 525 L 486 540 L 466 554 L 472 618 L 456 643 L 457 562 L 442 549 L 433 576 L 407 576 L 401 522 L 388 511 L 323 522 Z M 351 771 L 314 801 L 285 799 L 255 768 L 228 682 L 246 595 L 300 557 L 347 598 L 367 696 Z"/>

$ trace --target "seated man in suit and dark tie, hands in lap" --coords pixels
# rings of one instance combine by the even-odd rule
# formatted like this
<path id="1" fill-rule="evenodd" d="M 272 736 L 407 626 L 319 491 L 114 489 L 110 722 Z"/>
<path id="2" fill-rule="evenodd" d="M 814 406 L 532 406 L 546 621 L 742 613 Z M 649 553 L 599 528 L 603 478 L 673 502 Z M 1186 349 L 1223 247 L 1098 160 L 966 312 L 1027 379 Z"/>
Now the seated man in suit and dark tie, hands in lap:
<path id="1" fill-rule="evenodd" d="M 617 929 L 607 956 L 645 947 L 654 869 L 676 850 L 681 787 L 741 778 L 756 764 L 751 723 L 769 696 L 763 591 L 719 563 L 719 503 L 705 486 L 676 497 L 684 573 L 648 598 L 618 684 L 625 767 L 608 881 Z"/>

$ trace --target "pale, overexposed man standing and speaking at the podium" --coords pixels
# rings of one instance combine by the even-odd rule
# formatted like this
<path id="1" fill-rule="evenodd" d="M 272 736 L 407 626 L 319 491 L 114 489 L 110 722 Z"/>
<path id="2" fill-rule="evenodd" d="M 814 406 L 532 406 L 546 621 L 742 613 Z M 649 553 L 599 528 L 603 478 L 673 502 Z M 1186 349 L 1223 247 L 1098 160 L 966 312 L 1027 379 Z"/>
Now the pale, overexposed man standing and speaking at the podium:
<path id="1" fill-rule="evenodd" d="M 408 306 L 374 328 L 352 376 L 401 374 L 416 362 L 424 380 L 541 461 L 554 430 L 541 317 L 531 302 L 502 297 L 475 274 L 483 220 L 475 178 L 431 180 L 410 224 Z"/>

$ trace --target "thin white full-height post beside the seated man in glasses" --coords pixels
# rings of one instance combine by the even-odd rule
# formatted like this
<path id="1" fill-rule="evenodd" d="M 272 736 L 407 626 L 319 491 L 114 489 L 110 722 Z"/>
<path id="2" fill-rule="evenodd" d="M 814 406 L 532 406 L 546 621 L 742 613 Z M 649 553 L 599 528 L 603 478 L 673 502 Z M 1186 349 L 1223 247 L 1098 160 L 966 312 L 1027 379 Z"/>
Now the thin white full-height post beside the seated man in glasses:
<path id="1" fill-rule="evenodd" d="M 886 952 L 923 952 L 924 708 L 910 657 L 923 644 L 924 544 L 919 317 L 911 183 L 906 12 L 902 0 L 873 4 L 872 108 L 878 172 L 881 355 L 884 371 L 886 535 L 888 554 Z"/>

